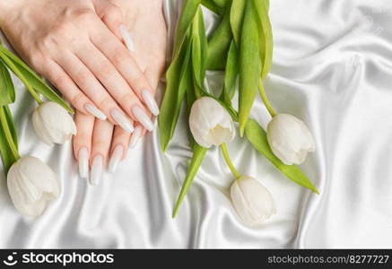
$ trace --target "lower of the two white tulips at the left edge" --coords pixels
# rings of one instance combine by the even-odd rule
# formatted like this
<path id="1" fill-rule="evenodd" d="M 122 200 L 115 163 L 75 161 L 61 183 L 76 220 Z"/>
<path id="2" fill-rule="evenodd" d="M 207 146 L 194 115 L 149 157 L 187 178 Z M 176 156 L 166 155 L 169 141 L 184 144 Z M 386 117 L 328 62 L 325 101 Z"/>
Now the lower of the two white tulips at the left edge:
<path id="1" fill-rule="evenodd" d="M 15 208 L 33 217 L 45 210 L 49 200 L 60 195 L 60 182 L 55 172 L 31 156 L 13 163 L 7 174 L 7 186 Z"/>

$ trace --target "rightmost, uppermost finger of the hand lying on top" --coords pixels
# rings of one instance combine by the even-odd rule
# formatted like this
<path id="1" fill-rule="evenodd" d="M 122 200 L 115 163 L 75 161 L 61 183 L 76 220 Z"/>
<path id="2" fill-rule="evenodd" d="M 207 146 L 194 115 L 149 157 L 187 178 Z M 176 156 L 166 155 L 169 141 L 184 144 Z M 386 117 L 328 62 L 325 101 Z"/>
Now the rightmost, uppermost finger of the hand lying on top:
<path id="1" fill-rule="evenodd" d="M 111 33 L 103 23 L 100 29 L 92 31 L 91 41 L 108 57 L 109 61 L 116 66 L 118 72 L 122 74 L 126 79 L 126 82 L 132 87 L 139 99 L 143 100 L 144 105 L 150 109 L 152 114 L 158 115 L 159 108 L 153 98 L 155 92 L 124 44 L 118 39 L 115 39 L 113 33 Z M 139 113 L 135 112 L 134 108 L 132 108 L 132 113 L 137 118 Z M 144 120 L 147 119 L 144 118 Z M 142 120 L 139 119 L 139 121 L 144 125 Z M 146 129 L 149 129 L 148 126 L 145 127 Z"/>

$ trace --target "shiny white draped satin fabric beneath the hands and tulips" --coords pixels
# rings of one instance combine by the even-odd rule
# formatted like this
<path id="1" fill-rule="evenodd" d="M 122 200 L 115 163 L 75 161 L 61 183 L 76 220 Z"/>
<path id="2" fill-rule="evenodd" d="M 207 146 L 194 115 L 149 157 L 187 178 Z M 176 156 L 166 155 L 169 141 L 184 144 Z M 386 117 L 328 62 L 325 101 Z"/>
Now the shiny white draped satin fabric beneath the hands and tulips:
<path id="1" fill-rule="evenodd" d="M 180 4 L 164 4 L 170 44 Z M 29 115 L 33 100 L 14 79 L 20 152 L 57 171 L 62 194 L 38 219 L 22 217 L 2 173 L 0 247 L 392 247 L 392 3 L 272 0 L 270 16 L 267 95 L 314 134 L 317 150 L 301 168 L 320 195 L 285 178 L 237 137 L 229 145 L 234 163 L 271 191 L 277 213 L 259 228 L 242 224 L 229 196 L 233 178 L 214 148 L 172 219 L 191 156 L 183 118 L 166 153 L 155 130 L 92 187 L 78 177 L 71 143 L 39 141 Z M 207 14 L 207 30 L 215 25 Z M 222 74 L 209 73 L 208 85 L 220 89 Z M 257 99 L 252 117 L 261 120 L 260 109 Z"/>

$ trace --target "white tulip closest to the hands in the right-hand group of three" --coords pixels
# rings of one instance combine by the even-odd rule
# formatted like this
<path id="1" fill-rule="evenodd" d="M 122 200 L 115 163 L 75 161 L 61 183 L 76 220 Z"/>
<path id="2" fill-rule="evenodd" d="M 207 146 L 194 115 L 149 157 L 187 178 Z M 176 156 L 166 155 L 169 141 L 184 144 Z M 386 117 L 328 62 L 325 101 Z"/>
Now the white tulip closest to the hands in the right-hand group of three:
<path id="1" fill-rule="evenodd" d="M 205 148 L 231 142 L 235 136 L 229 112 L 210 97 L 202 97 L 194 102 L 190 110 L 189 127 L 196 143 Z"/>

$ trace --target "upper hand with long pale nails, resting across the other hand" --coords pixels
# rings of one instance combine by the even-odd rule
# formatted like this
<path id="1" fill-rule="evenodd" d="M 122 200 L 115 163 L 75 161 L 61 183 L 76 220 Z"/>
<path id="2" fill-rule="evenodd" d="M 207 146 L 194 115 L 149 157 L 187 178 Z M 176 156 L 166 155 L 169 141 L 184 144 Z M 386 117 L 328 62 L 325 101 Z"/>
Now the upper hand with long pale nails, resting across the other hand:
<path id="1" fill-rule="evenodd" d="M 0 25 L 13 48 L 74 108 L 129 133 L 134 121 L 152 130 L 154 91 L 118 32 L 106 26 L 122 23 L 118 6 L 109 4 L 100 18 L 86 0 L 1 2 Z"/>

